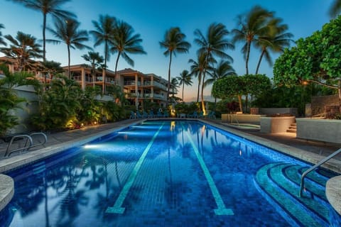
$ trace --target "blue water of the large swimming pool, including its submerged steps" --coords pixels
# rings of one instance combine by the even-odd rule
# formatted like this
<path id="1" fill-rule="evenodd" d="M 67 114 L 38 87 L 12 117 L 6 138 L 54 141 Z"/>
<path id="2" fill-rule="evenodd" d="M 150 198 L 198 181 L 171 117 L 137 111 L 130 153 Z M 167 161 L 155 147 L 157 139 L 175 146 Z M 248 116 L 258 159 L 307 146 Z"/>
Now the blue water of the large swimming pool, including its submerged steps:
<path id="1" fill-rule="evenodd" d="M 196 121 L 146 121 L 6 173 L 0 226 L 339 226 L 330 172 Z"/>

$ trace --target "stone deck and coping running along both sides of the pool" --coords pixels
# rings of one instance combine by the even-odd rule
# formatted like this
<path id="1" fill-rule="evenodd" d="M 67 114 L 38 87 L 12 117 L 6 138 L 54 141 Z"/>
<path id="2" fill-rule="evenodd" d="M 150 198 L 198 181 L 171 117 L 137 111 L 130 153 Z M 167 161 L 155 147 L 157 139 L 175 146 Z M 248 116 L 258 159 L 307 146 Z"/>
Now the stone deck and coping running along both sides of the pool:
<path id="1" fill-rule="evenodd" d="M 85 128 L 73 131 L 50 133 L 47 134 L 48 142 L 45 143 L 45 145 L 32 148 L 32 150 L 29 150 L 28 152 L 16 152 L 6 158 L 4 157 L 4 154 L 8 143 L 1 143 L 0 141 L 0 210 L 6 206 L 13 196 L 13 180 L 6 175 L 1 175 L 1 172 L 6 172 L 13 170 L 16 167 L 27 165 L 30 162 L 60 153 L 67 148 L 82 145 L 94 140 L 95 138 L 112 133 L 113 131 L 119 131 L 121 128 L 125 128 L 132 123 L 140 123 L 144 120 L 146 119 L 131 119 L 99 126 L 86 126 Z M 322 160 L 324 157 L 327 157 L 341 147 L 341 144 L 338 146 L 337 144 L 300 140 L 296 138 L 294 133 L 265 134 L 260 133 L 259 130 L 255 128 L 232 128 L 227 124 L 222 123 L 220 120 L 199 119 L 199 121 L 210 123 L 212 126 L 217 128 L 221 128 L 245 139 L 252 140 L 261 145 L 265 145 L 266 147 L 278 150 L 282 153 L 286 153 L 313 164 Z M 326 162 L 323 167 L 341 174 L 340 156 L 341 155 Z M 341 214 L 341 177 L 334 177 L 330 179 L 330 181 L 331 182 L 328 181 L 329 183 L 326 187 L 326 194 L 330 204 L 332 204 L 335 210 Z"/>

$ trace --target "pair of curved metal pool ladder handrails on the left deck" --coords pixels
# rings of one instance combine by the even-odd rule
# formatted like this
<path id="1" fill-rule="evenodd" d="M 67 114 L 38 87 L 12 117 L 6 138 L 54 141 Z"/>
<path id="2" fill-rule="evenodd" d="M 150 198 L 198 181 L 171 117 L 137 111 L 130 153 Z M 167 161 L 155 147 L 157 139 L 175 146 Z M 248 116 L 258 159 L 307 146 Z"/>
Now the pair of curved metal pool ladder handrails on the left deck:
<path id="1" fill-rule="evenodd" d="M 42 135 L 44 141 L 41 142 L 41 143 L 34 144 L 33 143 L 33 139 L 32 139 L 33 135 Z M 23 145 L 23 148 L 16 148 L 14 150 L 11 150 L 10 148 L 11 148 L 11 146 L 13 144 L 13 141 L 18 139 L 18 138 L 26 139 L 25 144 Z M 20 151 L 20 152 L 21 151 L 28 151 L 31 148 L 35 148 L 37 146 L 44 145 L 47 141 L 48 141 L 48 137 L 45 135 L 45 133 L 31 133 L 29 135 L 26 135 L 26 134 L 14 135 L 11 138 L 11 141 L 9 142 L 9 145 L 7 146 L 6 153 L 5 153 L 4 157 L 9 157 L 9 155 L 11 155 L 11 153 L 16 152 L 16 151 Z"/>

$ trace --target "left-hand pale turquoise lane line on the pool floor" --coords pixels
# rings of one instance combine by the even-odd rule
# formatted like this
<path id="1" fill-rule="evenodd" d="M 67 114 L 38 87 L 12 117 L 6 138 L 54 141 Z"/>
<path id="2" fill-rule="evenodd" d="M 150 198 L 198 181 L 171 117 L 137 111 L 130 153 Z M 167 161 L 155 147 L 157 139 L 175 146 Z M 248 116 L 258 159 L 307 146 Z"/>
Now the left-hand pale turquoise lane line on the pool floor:
<path id="1" fill-rule="evenodd" d="M 161 128 L 163 127 L 163 125 L 164 125 L 164 122 L 162 123 L 160 128 L 158 128 L 158 131 L 154 134 L 153 138 L 151 139 L 151 142 L 149 142 L 147 147 L 144 149 L 144 153 L 142 153 L 141 157 L 136 162 L 136 165 L 135 165 L 133 171 L 131 171 L 131 174 L 129 175 L 129 178 L 126 181 L 126 184 L 124 184 L 124 187 L 121 190 L 121 193 L 119 194 L 119 197 L 115 201 L 114 206 L 108 206 L 108 208 L 105 211 L 105 213 L 107 213 L 107 214 L 123 214 L 124 213 L 125 208 L 121 207 L 123 202 L 124 202 L 124 199 L 126 199 L 126 195 L 128 194 L 131 186 L 133 185 L 133 183 L 135 181 L 135 178 L 136 178 L 136 175 L 139 172 L 139 170 L 141 168 L 141 165 L 144 162 L 148 151 L 151 149 L 151 145 L 153 145 L 154 140 L 158 136 L 158 133 L 160 133 Z"/>

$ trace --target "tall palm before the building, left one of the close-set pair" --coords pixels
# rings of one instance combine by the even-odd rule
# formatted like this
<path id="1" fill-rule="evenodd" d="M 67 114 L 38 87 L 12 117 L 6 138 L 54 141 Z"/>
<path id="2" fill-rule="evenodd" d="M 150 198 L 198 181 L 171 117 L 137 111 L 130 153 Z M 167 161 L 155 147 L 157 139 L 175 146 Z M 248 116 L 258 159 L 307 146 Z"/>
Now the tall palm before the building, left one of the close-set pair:
<path id="1" fill-rule="evenodd" d="M 104 67 L 102 69 L 102 93 L 105 92 L 105 76 L 107 69 L 107 61 L 110 60 L 109 50 L 112 46 L 112 37 L 114 34 L 116 18 L 108 15 L 99 15 L 99 21 L 92 21 L 95 30 L 90 31 L 90 34 L 94 37 L 94 47 L 104 44 Z"/>

